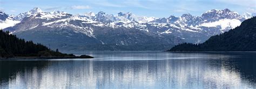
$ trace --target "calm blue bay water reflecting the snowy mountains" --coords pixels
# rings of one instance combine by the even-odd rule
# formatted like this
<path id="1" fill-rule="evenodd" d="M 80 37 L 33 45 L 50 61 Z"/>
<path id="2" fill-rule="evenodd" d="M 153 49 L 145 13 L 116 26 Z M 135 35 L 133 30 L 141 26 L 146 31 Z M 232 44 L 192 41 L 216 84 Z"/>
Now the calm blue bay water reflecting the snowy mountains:
<path id="1" fill-rule="evenodd" d="M 64 51 L 94 59 L 0 60 L 2 88 L 256 88 L 256 53 Z"/>

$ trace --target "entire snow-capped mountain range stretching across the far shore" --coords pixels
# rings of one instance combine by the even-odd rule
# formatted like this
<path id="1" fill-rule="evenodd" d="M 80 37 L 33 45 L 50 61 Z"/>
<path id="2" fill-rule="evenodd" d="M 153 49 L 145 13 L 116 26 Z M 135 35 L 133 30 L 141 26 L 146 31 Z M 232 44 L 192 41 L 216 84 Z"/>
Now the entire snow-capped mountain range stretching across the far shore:
<path id="1" fill-rule="evenodd" d="M 17 16 L 0 12 L 0 28 L 61 50 L 167 50 L 182 42 L 202 43 L 241 24 L 255 13 L 209 10 L 201 16 L 141 17 L 103 11 L 72 15 L 34 8 Z"/>

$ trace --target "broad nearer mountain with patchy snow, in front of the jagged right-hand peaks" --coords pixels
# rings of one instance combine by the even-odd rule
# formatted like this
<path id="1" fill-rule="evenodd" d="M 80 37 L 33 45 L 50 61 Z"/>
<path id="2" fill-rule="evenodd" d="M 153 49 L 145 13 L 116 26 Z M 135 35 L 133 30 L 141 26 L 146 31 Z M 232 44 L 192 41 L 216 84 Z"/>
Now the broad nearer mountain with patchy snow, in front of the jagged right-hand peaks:
<path id="1" fill-rule="evenodd" d="M 96 16 L 91 19 L 65 12 L 39 12 L 4 30 L 60 50 L 165 50 L 181 42 L 178 37 L 160 36 L 116 22 L 105 24 L 113 19 L 104 12 Z"/>

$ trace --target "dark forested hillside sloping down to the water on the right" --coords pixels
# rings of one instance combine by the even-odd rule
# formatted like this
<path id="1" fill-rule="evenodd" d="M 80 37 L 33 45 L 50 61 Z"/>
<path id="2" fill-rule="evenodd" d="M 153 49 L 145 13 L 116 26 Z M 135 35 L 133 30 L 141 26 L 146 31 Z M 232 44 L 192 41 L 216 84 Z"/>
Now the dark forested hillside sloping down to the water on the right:
<path id="1" fill-rule="evenodd" d="M 235 29 L 212 36 L 202 44 L 183 43 L 169 51 L 256 51 L 256 17 Z"/>

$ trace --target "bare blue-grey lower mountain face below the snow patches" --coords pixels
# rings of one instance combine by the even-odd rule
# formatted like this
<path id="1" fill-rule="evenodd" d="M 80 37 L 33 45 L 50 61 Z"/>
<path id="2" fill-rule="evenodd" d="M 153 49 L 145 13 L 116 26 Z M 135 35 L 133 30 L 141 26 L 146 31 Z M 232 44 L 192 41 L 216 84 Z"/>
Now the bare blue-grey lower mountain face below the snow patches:
<path id="1" fill-rule="evenodd" d="M 94 37 L 76 33 L 70 29 L 28 30 L 18 32 L 16 35 L 62 50 L 165 50 L 166 47 L 173 46 L 170 44 L 180 43 L 181 40 L 173 36 L 159 37 L 154 35 L 156 36 L 154 37 L 134 29 L 116 29 L 119 31 L 113 31 L 111 28 L 99 29 L 103 31 L 99 31 Z"/>

